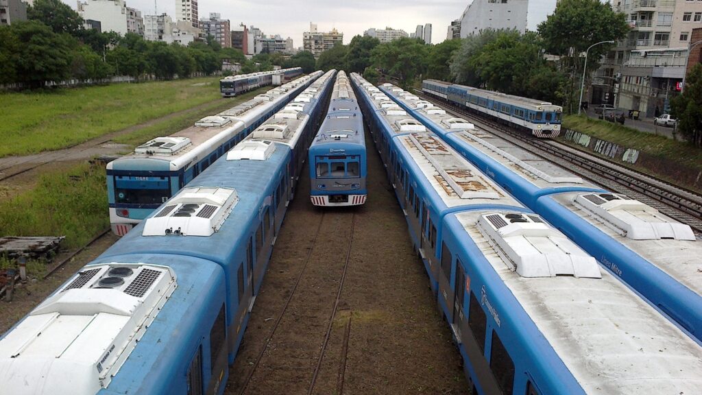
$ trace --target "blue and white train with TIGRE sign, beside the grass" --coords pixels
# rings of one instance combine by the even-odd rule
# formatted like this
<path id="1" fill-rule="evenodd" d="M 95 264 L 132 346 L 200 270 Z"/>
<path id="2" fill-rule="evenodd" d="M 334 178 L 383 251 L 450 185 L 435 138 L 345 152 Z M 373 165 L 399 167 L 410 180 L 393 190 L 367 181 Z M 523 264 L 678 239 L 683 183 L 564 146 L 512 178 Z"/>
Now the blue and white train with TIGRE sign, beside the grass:
<path id="1" fill-rule="evenodd" d="M 157 137 L 107 164 L 110 224 L 126 234 L 322 72 L 296 79 L 167 137 Z"/>

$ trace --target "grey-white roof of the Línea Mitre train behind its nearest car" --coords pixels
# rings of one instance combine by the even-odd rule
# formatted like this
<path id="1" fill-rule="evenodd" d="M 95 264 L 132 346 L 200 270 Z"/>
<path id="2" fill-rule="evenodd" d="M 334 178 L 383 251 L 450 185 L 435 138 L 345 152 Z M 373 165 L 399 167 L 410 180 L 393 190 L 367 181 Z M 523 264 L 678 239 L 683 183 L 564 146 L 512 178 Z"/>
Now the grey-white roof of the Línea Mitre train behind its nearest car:
<path id="1" fill-rule="evenodd" d="M 487 133 L 463 118 L 453 117 L 434 106 L 417 105 L 423 101 L 403 95 L 402 92 L 389 94 L 395 96 L 397 100 L 409 108 L 416 109 L 418 115 L 432 122 L 437 129 L 442 129 L 447 134 L 446 138 L 451 138 L 461 145 L 472 148 L 474 153 L 478 153 L 478 155 L 491 157 L 537 188 L 600 189 L 581 176 L 534 155 L 529 150 L 524 149 L 522 145 Z"/>

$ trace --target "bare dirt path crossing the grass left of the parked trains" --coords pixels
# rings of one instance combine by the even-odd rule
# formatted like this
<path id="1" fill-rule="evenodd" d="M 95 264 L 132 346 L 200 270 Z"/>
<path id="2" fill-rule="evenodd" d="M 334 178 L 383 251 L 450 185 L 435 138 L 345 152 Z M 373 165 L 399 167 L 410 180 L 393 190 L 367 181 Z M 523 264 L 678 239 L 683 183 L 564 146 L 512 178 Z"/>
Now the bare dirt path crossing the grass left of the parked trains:
<path id="1" fill-rule="evenodd" d="M 46 151 L 44 153 L 26 156 L 1 157 L 0 182 L 2 182 L 3 179 L 8 179 L 9 176 L 13 176 L 14 174 L 27 172 L 38 174 L 37 169 L 48 163 L 88 160 L 99 155 L 118 155 L 131 147 L 124 144 L 112 143 L 114 138 L 131 134 L 135 131 L 151 127 L 159 122 L 164 122 L 168 121 L 169 119 L 179 117 L 180 115 L 194 114 L 200 110 L 203 110 L 204 108 L 210 107 L 213 105 L 213 103 L 227 103 L 227 99 L 218 98 L 215 101 L 197 105 L 193 108 L 172 112 L 171 114 L 164 115 L 163 117 L 151 119 L 143 124 L 134 125 L 133 127 L 114 131 L 112 133 L 103 134 L 102 136 L 92 138 L 84 143 L 73 145 L 72 147 L 64 148 L 62 150 Z"/>

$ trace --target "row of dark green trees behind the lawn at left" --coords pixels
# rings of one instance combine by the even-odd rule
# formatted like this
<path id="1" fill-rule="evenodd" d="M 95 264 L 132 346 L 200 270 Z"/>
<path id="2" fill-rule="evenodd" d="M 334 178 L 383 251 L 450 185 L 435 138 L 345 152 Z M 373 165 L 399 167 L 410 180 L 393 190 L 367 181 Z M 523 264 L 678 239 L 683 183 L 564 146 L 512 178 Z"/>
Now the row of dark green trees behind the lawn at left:
<path id="1" fill-rule="evenodd" d="M 112 75 L 172 79 L 210 75 L 221 70 L 223 60 L 246 63 L 241 51 L 222 48 L 212 37 L 181 46 L 85 29 L 78 13 L 60 0 L 35 0 L 27 19 L 0 26 L 0 84 L 41 86 Z"/>

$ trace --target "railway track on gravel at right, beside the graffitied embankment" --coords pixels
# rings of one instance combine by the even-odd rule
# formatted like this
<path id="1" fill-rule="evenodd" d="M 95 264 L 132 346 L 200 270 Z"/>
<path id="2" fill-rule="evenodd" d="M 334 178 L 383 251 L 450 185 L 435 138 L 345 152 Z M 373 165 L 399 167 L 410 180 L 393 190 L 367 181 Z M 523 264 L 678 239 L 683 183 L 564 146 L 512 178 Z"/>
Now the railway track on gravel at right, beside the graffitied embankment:
<path id="1" fill-rule="evenodd" d="M 503 124 L 456 108 L 445 101 L 439 101 L 439 99 L 428 96 L 422 91 L 416 90 L 415 92 L 417 96 L 440 105 L 453 115 L 469 118 L 485 131 L 509 141 L 516 139 L 523 142 L 522 148 L 534 153 L 534 155 L 556 162 L 604 188 L 640 200 L 655 207 L 663 214 L 688 224 L 696 232 L 702 233 L 702 196 L 694 191 L 656 179 L 614 161 L 585 153 L 558 141 L 532 138 L 505 127 Z"/>

